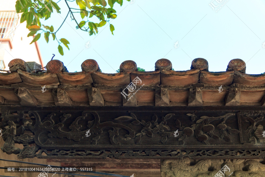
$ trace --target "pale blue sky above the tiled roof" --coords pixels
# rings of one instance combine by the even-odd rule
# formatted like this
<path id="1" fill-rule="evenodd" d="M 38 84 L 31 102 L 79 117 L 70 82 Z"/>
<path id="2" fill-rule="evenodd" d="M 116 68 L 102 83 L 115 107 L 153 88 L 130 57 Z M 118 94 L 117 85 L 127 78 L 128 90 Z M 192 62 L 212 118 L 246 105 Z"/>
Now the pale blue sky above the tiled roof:
<path id="1" fill-rule="evenodd" d="M 58 43 L 47 42 L 42 36 L 39 46 L 46 64 L 61 60 L 69 72 L 81 71 L 86 59 L 94 59 L 103 73 L 115 73 L 125 60 L 133 60 L 145 71 L 154 71 L 155 62 L 167 58 L 175 71 L 189 70 L 195 58 L 205 58 L 209 71 L 225 71 L 230 60 L 240 58 L 246 62 L 246 73 L 260 74 L 264 69 L 265 1 L 247 0 L 158 1 L 135 0 L 130 4 L 115 4 L 117 18 L 110 19 L 115 27 L 114 35 L 109 24 L 99 28 L 96 35 L 77 30 L 74 21 L 67 17 L 57 38 L 66 38 L 70 50 L 64 47 L 64 55 L 58 52 Z M 218 7 L 213 10 L 209 4 Z M 60 1 L 61 14 L 42 21 L 53 25 L 54 31 L 61 25 L 68 8 Z M 223 6 L 222 6 L 223 5 Z M 78 8 L 75 2 L 73 8 Z M 219 11 L 216 12 L 218 8 Z M 82 19 L 75 14 L 78 22 Z M 93 22 L 100 22 L 94 18 Z M 89 41 L 90 47 L 85 45 Z M 178 41 L 177 48 L 174 43 Z M 89 46 L 89 45 L 88 45 Z"/>

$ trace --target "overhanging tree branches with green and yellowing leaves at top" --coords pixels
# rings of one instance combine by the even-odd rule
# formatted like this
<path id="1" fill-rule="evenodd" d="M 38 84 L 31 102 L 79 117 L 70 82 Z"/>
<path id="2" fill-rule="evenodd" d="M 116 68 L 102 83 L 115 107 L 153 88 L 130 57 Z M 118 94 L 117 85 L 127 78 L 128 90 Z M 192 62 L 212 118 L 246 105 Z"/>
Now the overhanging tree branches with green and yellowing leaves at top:
<path id="1" fill-rule="evenodd" d="M 75 2 L 74 2 L 75 1 Z M 39 0 L 32 3 L 31 0 L 18 0 L 16 1 L 16 12 L 21 13 L 20 23 L 27 21 L 27 29 L 30 31 L 29 36 L 34 36 L 32 42 L 36 42 L 41 37 L 41 33 L 44 32 L 44 39 L 49 42 L 49 37 L 52 36 L 53 40 L 59 43 L 58 51 L 61 55 L 64 55 L 62 45 L 64 45 L 68 50 L 70 42 L 65 39 L 57 39 L 58 31 L 66 21 L 67 17 L 76 23 L 76 29 L 88 32 L 89 35 L 98 33 L 98 28 L 103 27 L 106 24 L 110 24 L 110 19 L 115 19 L 117 17 L 116 10 L 113 9 L 113 5 L 117 2 L 122 6 L 123 0 L 65 0 L 58 1 L 57 3 L 50 0 Z M 130 0 L 126 0 L 130 1 Z M 53 25 L 42 24 L 40 21 L 44 22 L 49 18 L 58 18 L 57 15 L 51 16 L 52 13 L 61 13 L 61 8 L 59 6 L 67 6 L 67 15 L 65 16 L 62 24 L 59 28 L 54 29 Z M 78 8 L 76 7 L 78 6 Z M 56 12 L 56 13 L 55 13 Z M 80 20 L 80 17 L 82 20 Z M 95 19 L 89 19 L 91 17 L 96 17 Z M 56 25 L 57 26 L 57 25 Z M 110 24 L 110 32 L 113 34 L 115 30 L 114 26 Z M 71 35 L 71 34 L 69 34 Z"/>

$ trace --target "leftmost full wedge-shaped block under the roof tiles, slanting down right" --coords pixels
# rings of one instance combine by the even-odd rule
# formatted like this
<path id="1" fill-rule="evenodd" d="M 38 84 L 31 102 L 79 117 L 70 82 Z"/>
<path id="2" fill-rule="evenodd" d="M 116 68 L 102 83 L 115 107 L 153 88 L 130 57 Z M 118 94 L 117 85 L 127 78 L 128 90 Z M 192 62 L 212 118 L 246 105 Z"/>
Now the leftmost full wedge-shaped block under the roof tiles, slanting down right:
<path id="1" fill-rule="evenodd" d="M 19 87 L 15 89 L 15 94 L 21 105 L 36 106 L 38 103 L 38 100 L 26 88 Z"/>

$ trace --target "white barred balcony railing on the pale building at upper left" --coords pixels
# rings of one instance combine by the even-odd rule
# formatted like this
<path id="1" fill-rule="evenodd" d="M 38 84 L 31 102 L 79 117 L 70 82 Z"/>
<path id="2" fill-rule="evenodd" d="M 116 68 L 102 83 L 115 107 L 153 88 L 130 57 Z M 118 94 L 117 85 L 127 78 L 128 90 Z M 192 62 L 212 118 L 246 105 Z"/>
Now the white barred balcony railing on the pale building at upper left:
<path id="1" fill-rule="evenodd" d="M 19 16 L 16 11 L 0 11 L 0 40 L 12 41 Z"/>

